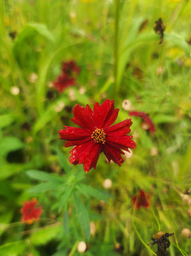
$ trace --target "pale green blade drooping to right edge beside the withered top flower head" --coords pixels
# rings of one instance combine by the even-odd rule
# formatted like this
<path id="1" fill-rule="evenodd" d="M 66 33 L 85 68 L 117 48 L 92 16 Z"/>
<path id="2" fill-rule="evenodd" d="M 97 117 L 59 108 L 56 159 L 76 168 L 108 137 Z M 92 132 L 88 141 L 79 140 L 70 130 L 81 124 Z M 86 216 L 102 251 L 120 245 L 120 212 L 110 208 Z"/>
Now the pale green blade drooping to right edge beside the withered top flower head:
<path id="1" fill-rule="evenodd" d="M 185 51 L 186 55 L 190 58 L 190 47 L 183 38 L 173 34 L 164 33 L 164 41 L 171 42 L 173 45 L 180 47 L 182 50 Z"/>

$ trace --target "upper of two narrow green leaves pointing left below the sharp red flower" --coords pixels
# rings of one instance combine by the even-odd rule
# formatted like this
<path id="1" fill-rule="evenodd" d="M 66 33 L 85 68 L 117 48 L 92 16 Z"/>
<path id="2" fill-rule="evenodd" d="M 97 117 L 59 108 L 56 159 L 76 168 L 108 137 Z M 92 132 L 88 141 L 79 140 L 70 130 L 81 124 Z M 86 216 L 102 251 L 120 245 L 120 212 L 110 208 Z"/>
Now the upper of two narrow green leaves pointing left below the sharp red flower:
<path id="1" fill-rule="evenodd" d="M 37 179 L 37 180 L 43 180 L 43 181 L 53 181 L 53 180 L 60 180 L 60 182 L 62 182 L 62 178 L 57 176 L 56 174 L 49 174 L 47 172 L 44 171 L 38 171 L 38 170 L 29 170 L 26 172 L 26 174 L 33 178 L 33 179 Z"/>

